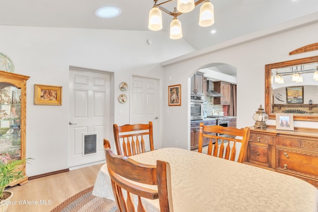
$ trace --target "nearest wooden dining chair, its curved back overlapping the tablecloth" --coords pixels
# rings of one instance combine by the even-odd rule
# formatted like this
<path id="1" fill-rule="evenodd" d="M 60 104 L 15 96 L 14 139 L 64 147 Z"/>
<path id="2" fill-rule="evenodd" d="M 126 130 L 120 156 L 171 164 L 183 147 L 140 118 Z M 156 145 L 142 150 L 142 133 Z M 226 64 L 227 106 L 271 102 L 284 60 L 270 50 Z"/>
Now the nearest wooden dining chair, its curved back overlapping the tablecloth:
<path id="1" fill-rule="evenodd" d="M 120 212 L 146 212 L 142 198 L 159 199 L 160 212 L 173 212 L 171 175 L 168 162 L 157 160 L 157 165 L 139 163 L 124 155 L 105 149 L 106 164 L 112 189 Z M 130 181 L 128 181 L 128 180 Z M 141 184 L 157 185 L 157 190 Z M 127 195 L 123 194 L 123 190 Z M 138 201 L 131 194 L 138 197 Z"/>

